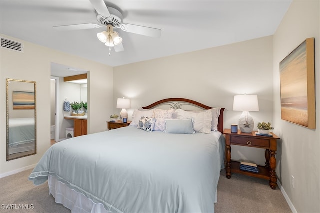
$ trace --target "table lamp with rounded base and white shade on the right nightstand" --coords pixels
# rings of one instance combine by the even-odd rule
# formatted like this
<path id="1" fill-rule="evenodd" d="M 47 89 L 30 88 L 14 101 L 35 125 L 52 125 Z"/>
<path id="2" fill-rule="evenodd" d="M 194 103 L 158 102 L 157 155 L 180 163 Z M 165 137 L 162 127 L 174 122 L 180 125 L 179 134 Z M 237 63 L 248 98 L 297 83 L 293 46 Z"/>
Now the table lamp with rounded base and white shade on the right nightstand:
<path id="1" fill-rule="evenodd" d="M 239 128 L 242 132 L 250 133 L 254 121 L 249 111 L 259 111 L 258 96 L 255 94 L 234 95 L 233 111 L 243 111 L 239 118 Z"/>

